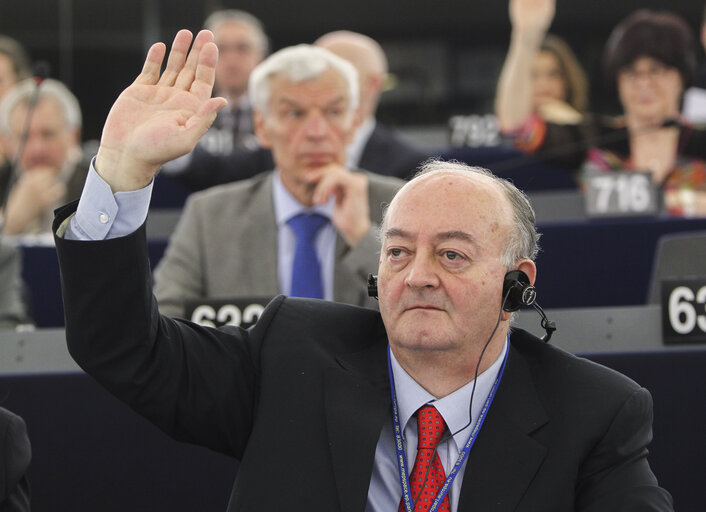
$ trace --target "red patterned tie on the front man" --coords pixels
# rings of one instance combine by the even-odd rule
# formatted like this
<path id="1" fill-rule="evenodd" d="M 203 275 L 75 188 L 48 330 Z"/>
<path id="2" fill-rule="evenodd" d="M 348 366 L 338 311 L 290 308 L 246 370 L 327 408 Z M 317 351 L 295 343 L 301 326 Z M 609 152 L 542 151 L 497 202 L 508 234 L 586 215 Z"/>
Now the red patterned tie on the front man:
<path id="1" fill-rule="evenodd" d="M 414 502 L 414 512 L 426 512 L 434 502 L 439 489 L 446 481 L 436 446 L 446 430 L 446 423 L 433 405 L 425 405 L 417 411 L 419 441 L 417 458 L 409 477 L 409 487 Z M 430 467 L 431 466 L 431 467 Z M 439 510 L 449 512 L 449 495 L 444 497 Z M 400 500 L 398 512 L 404 512 L 404 498 Z"/>

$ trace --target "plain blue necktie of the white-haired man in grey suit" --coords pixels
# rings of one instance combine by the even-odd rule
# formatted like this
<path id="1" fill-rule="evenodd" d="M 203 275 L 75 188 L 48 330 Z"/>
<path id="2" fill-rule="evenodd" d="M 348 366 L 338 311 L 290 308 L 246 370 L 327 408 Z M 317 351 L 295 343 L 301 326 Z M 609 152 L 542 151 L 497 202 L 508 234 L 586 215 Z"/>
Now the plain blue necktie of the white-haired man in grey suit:
<path id="1" fill-rule="evenodd" d="M 321 263 L 314 242 L 316 234 L 327 222 L 326 217 L 315 213 L 300 213 L 287 221 L 297 238 L 289 293 L 292 297 L 324 298 Z"/>

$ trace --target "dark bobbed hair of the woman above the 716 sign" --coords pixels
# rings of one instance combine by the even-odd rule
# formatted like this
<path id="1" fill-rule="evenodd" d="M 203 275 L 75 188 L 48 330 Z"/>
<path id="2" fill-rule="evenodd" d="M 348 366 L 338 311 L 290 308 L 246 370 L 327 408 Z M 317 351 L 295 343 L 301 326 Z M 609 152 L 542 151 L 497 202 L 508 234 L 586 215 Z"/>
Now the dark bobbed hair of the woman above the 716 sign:
<path id="1" fill-rule="evenodd" d="M 696 47 L 689 25 L 676 14 L 640 9 L 611 32 L 603 54 L 606 83 L 615 90 L 618 73 L 640 57 L 650 57 L 675 68 L 684 89 L 696 68 Z"/>

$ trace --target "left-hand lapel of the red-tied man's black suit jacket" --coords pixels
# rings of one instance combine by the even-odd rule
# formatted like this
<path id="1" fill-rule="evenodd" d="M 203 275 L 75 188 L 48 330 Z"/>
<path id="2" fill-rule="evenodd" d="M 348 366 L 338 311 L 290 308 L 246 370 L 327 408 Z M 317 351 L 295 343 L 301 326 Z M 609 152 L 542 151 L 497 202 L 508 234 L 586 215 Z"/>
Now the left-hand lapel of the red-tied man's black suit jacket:
<path id="1" fill-rule="evenodd" d="M 343 512 L 365 509 L 375 449 L 390 414 L 387 343 L 339 357 L 326 374 L 331 458 Z"/>

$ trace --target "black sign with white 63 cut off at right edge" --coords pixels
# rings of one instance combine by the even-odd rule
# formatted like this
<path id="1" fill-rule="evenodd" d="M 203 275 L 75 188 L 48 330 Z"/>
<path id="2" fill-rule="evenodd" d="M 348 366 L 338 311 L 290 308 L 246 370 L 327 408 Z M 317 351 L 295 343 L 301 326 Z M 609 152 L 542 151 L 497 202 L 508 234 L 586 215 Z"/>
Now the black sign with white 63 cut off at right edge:
<path id="1" fill-rule="evenodd" d="M 664 343 L 706 343 L 706 277 L 662 281 Z"/>

